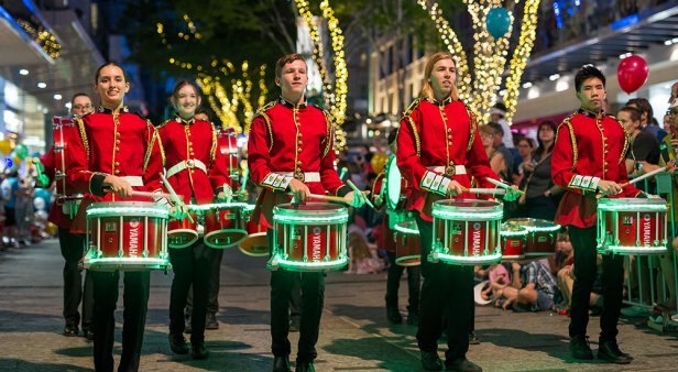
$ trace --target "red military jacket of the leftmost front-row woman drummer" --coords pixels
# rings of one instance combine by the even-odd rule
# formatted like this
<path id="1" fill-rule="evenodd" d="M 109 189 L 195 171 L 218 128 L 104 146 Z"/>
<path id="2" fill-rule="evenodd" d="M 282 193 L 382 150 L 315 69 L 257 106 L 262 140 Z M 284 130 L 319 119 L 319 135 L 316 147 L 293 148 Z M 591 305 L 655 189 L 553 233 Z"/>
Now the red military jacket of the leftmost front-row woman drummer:
<path id="1" fill-rule="evenodd" d="M 163 160 L 156 130 L 150 121 L 130 113 L 100 108 L 98 112 L 74 119 L 80 141 L 69 144 L 67 177 L 74 188 L 86 193 L 72 232 L 85 232 L 85 210 L 98 201 L 150 201 L 149 198 L 120 198 L 103 190 L 107 175 L 138 177 L 143 185 L 130 182 L 135 190 L 161 190 Z"/>

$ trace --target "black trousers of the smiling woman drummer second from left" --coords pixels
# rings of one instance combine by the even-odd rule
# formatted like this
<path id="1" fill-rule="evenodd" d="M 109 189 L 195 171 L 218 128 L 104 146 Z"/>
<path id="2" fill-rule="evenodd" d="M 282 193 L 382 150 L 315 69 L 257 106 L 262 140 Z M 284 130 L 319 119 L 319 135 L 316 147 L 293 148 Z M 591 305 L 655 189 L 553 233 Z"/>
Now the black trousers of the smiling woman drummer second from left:
<path id="1" fill-rule="evenodd" d="M 170 333 L 183 335 L 185 330 L 184 308 L 188 288 L 193 285 L 193 314 L 190 317 L 190 343 L 205 342 L 205 316 L 207 293 L 211 280 L 215 250 L 205 245 L 203 239 L 182 249 L 170 249 L 170 261 L 174 271 L 170 294 Z"/>

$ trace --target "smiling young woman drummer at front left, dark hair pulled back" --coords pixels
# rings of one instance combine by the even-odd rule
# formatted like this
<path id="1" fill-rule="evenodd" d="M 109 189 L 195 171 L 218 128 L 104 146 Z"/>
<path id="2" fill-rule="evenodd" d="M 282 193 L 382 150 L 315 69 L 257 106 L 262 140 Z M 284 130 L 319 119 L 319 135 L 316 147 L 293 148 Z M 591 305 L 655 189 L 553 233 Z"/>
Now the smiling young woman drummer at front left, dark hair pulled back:
<path id="1" fill-rule="evenodd" d="M 131 200 L 134 190 L 161 190 L 163 171 L 156 132 L 150 121 L 123 105 L 130 89 L 125 72 L 116 63 L 97 69 L 95 91 L 101 106 L 95 113 L 75 118 L 80 141 L 69 143 L 68 179 L 86 194 L 72 232 L 85 233 L 85 211 L 96 201 Z M 94 361 L 97 371 L 113 370 L 113 341 L 120 274 L 92 271 Z M 120 371 L 136 371 L 141 357 L 149 303 L 150 272 L 124 273 L 124 324 Z"/>

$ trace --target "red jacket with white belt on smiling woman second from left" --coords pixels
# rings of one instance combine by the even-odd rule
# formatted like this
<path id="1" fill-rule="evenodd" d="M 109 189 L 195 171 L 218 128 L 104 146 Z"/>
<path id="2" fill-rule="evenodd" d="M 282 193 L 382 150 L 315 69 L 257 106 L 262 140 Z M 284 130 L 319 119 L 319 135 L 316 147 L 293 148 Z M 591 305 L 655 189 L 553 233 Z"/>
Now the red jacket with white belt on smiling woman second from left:
<path id="1" fill-rule="evenodd" d="M 230 186 L 226 157 L 217 156 L 217 130 L 211 123 L 175 118 L 161 125 L 157 134 L 167 180 L 184 201 L 195 196 L 198 204 L 211 203 L 223 185 Z"/>

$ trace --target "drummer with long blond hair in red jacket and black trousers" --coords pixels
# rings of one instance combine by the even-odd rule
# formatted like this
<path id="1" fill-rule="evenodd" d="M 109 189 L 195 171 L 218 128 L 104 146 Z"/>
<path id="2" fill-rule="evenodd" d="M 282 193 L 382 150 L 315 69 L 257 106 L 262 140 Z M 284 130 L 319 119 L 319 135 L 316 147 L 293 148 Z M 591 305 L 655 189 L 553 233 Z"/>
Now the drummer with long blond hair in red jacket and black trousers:
<path id="1" fill-rule="evenodd" d="M 459 100 L 455 56 L 433 55 L 426 64 L 424 85 L 401 119 L 397 165 L 411 185 L 406 208 L 415 211 L 422 241 L 422 286 L 417 342 L 422 364 L 428 371 L 442 370 L 438 339 L 447 318 L 448 371 L 482 371 L 466 357 L 473 324 L 473 267 L 429 262 L 435 200 L 447 197 L 474 198 L 464 193 L 471 176 L 480 187 L 492 188 L 489 178 L 499 177 L 485 155 L 474 114 Z M 505 199 L 515 199 L 508 188 Z"/>

